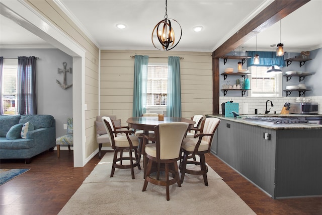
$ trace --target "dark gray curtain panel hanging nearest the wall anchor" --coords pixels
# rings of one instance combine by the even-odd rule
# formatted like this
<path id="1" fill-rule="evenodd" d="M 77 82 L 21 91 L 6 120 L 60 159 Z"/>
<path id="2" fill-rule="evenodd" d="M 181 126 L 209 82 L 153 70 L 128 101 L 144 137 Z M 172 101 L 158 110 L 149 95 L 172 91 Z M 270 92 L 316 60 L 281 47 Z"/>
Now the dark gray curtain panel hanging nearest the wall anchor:
<path id="1" fill-rule="evenodd" d="M 36 57 L 18 57 L 18 113 L 37 114 Z"/>

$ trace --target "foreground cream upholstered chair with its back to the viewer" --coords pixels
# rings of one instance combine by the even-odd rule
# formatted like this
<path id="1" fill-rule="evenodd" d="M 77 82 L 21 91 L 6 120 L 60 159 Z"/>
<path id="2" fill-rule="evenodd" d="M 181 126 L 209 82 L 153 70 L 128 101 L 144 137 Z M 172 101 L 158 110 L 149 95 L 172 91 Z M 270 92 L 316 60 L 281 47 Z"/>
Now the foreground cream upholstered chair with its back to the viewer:
<path id="1" fill-rule="evenodd" d="M 154 127 L 155 143 L 153 144 L 146 144 L 150 137 L 143 134 L 145 177 L 142 191 L 146 190 L 148 182 L 166 186 L 167 200 L 169 201 L 169 186 L 177 183 L 181 187 L 177 161 L 180 159 L 181 144 L 188 126 L 189 124 L 186 122 L 160 123 L 156 125 Z M 156 176 L 152 174 L 153 162 L 157 165 Z M 161 164 L 164 164 L 165 167 L 161 167 Z M 160 171 L 165 172 L 166 178 L 164 180 L 159 176 Z M 169 172 L 172 173 L 173 178 L 171 180 L 169 179 Z"/>

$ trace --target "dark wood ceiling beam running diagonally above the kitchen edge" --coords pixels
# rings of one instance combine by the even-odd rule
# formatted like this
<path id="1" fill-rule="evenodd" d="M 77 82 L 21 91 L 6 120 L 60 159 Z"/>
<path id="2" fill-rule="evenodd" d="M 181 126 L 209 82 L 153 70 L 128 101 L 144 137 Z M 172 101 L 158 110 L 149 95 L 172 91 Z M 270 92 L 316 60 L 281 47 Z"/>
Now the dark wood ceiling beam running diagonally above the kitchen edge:
<path id="1" fill-rule="evenodd" d="M 213 53 L 214 58 L 220 58 L 230 51 L 236 49 L 246 41 L 254 37 L 256 34 L 264 31 L 266 28 L 272 26 L 280 21 L 293 11 L 302 7 L 310 0 L 276 0 L 256 17 L 254 17 L 244 27 L 239 29 L 226 42 L 219 46 Z"/>

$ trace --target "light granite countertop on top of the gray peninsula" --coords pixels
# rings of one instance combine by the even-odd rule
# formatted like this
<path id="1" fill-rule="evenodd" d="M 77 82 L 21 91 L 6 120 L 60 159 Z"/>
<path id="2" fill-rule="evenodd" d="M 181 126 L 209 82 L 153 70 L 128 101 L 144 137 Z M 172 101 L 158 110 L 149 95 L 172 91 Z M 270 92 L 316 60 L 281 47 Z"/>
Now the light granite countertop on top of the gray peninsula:
<path id="1" fill-rule="evenodd" d="M 248 125 L 254 125 L 274 130 L 283 130 L 283 129 L 322 129 L 322 125 L 318 124 L 311 124 L 311 123 L 282 123 L 282 124 L 272 124 L 265 121 L 258 121 L 258 120 L 250 120 L 246 119 L 247 117 L 265 117 L 265 116 L 273 116 L 273 115 L 263 115 L 263 114 L 253 114 L 253 115 L 240 115 L 237 118 L 234 117 L 225 117 L 223 115 L 212 115 L 212 114 L 206 114 L 207 117 L 216 117 L 219 119 L 225 119 L 228 121 L 233 121 L 237 123 L 244 123 Z M 315 114 L 315 115 L 298 115 L 298 114 L 289 114 L 289 115 L 274 115 L 276 117 L 305 117 L 305 116 L 322 116 L 321 114 Z"/>

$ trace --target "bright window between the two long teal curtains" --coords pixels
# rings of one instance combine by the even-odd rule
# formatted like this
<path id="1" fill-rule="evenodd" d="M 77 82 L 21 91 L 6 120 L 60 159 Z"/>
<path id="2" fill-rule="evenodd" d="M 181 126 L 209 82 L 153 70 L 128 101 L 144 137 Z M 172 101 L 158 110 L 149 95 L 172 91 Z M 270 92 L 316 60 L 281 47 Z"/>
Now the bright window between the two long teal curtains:
<path id="1" fill-rule="evenodd" d="M 168 65 L 148 65 L 146 106 L 167 106 Z"/>

